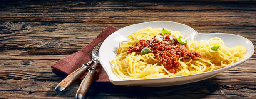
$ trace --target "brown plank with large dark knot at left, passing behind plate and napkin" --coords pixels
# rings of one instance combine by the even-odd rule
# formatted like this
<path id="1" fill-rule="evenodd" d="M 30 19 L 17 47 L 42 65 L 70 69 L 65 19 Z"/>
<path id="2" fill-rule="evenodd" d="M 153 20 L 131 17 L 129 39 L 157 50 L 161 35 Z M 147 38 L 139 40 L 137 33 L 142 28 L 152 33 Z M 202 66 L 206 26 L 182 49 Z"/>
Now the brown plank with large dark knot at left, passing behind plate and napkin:
<path id="1" fill-rule="evenodd" d="M 16 24 L 20 24 L 20 27 L 17 27 Z M 208 26 L 206 24 L 193 24 L 191 27 L 199 33 L 231 33 L 255 41 L 254 35 L 248 35 L 256 33 L 253 31 L 256 30 L 254 26 L 222 26 L 220 24 Z M 117 28 L 127 26 L 127 24 L 112 25 Z M 107 24 L 0 22 L 0 45 L 2 45 L 2 50 L 32 50 L 32 47 L 37 49 L 43 49 L 40 47 L 81 48 L 96 38 L 106 26 Z"/>

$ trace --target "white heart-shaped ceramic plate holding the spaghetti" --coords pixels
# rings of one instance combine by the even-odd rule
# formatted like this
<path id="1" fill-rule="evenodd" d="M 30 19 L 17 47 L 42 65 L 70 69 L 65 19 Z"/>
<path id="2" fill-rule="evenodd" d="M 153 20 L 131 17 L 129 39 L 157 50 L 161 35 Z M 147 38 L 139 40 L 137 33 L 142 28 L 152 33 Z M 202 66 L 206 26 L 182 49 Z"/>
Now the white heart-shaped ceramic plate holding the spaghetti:
<path id="1" fill-rule="evenodd" d="M 112 67 L 110 66 L 109 61 L 114 59 L 117 56 L 117 47 L 119 46 L 119 42 L 126 40 L 127 36 L 137 32 L 140 29 L 144 29 L 146 27 L 152 28 L 167 28 L 173 31 L 180 31 L 181 35 L 185 37 L 190 37 L 194 40 L 209 40 L 213 37 L 219 37 L 224 39 L 224 43 L 227 47 L 234 47 L 241 45 L 246 48 L 246 58 L 241 61 L 238 61 L 230 66 L 225 68 L 221 68 L 215 71 L 209 71 L 206 73 L 199 73 L 195 75 L 186 75 L 180 77 L 172 77 L 172 78 L 157 78 L 157 79 L 140 79 L 140 80 L 121 80 L 119 79 L 112 71 Z M 176 23 L 171 21 L 153 21 L 153 22 L 145 22 L 134 24 L 130 26 L 126 26 L 124 28 L 119 29 L 113 34 L 109 35 L 109 37 L 104 40 L 100 49 L 99 49 L 99 59 L 102 67 L 107 72 L 109 76 L 109 80 L 114 85 L 136 85 L 136 86 L 145 86 L 145 87 L 158 87 L 158 86 L 170 86 L 170 85 L 181 85 L 191 82 L 196 82 L 200 80 L 205 80 L 211 78 L 223 71 L 229 70 L 238 66 L 239 64 L 248 60 L 254 53 L 254 45 L 252 42 L 242 36 L 233 35 L 233 34 L 224 34 L 224 33 L 209 33 L 209 34 L 201 34 L 196 32 L 193 28 Z"/>

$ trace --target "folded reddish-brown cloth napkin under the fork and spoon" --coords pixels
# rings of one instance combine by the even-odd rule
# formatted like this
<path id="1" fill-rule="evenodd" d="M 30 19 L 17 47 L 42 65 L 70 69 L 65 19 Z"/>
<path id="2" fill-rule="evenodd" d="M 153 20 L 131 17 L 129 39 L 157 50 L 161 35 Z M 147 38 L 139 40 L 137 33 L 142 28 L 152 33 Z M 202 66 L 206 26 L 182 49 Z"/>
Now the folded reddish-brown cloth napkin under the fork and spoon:
<path id="1" fill-rule="evenodd" d="M 80 68 L 82 64 L 91 61 L 93 48 L 100 42 L 103 42 L 110 34 L 114 33 L 117 30 L 118 30 L 117 28 L 111 25 L 108 25 L 101 33 L 99 33 L 99 35 L 94 40 L 92 40 L 92 42 L 90 42 L 80 51 L 68 57 L 65 57 L 64 59 L 60 59 L 54 65 L 52 65 L 51 66 L 53 68 L 52 72 L 61 77 L 66 77 L 73 71 Z M 108 75 L 104 71 L 102 66 L 97 66 L 96 71 L 97 73 L 94 76 L 94 81 L 109 82 Z M 83 79 L 87 73 L 88 71 L 85 72 L 85 74 L 80 79 Z"/>

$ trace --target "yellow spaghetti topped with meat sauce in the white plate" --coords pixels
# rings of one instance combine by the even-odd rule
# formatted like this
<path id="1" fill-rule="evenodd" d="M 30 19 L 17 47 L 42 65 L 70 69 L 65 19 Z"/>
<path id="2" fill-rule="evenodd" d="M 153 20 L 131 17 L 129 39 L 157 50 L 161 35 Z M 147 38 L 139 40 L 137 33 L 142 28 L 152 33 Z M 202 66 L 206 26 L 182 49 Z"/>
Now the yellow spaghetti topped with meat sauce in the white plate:
<path id="1" fill-rule="evenodd" d="M 132 33 L 127 37 L 126 41 L 119 43 L 119 47 L 117 48 L 118 56 L 110 61 L 112 70 L 118 78 L 131 80 L 192 75 L 229 66 L 245 57 L 246 49 L 244 47 L 226 47 L 221 38 L 211 38 L 208 41 L 189 40 L 185 45 L 182 45 L 176 40 L 180 32 L 170 31 L 168 33 L 170 34 L 169 36 L 161 36 L 159 35 L 161 30 L 162 28 L 153 29 L 147 27 L 136 33 Z M 159 36 L 161 36 L 162 39 L 159 39 Z M 167 40 L 163 38 L 168 38 L 168 40 L 171 39 L 173 41 L 167 42 Z M 163 47 L 160 49 L 167 52 L 161 52 L 159 51 L 159 46 L 156 47 L 157 45 L 155 45 L 154 48 L 158 48 L 158 52 L 155 52 L 153 46 L 148 44 L 147 46 L 150 46 L 148 49 L 153 49 L 154 51 L 151 50 L 146 54 L 141 54 L 140 50 L 142 48 L 139 47 L 146 45 L 146 42 L 153 42 L 149 41 L 150 39 L 154 40 L 154 43 L 159 43 L 160 41 L 163 42 L 163 44 L 177 42 L 177 44 L 167 47 L 169 50 L 178 49 L 181 51 L 170 52 L 166 50 L 167 47 Z M 174 46 L 177 48 L 174 48 Z M 220 49 L 216 52 L 210 52 L 209 49 L 211 49 L 212 46 L 219 46 Z M 132 48 L 134 47 L 139 51 L 133 50 Z M 185 47 L 187 51 L 184 49 Z M 182 54 L 175 54 L 175 52 L 181 52 Z M 177 58 L 176 61 L 175 58 Z M 168 63 L 168 60 L 170 63 Z"/>

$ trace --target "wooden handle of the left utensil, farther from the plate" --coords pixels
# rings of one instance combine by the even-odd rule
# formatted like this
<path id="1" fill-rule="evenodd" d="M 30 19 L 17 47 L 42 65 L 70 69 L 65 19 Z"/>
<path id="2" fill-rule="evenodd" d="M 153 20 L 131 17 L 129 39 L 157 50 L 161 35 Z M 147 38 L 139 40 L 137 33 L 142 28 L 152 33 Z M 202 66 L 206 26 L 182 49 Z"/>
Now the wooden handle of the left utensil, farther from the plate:
<path id="1" fill-rule="evenodd" d="M 58 85 L 57 87 L 63 87 L 64 89 L 67 88 L 68 86 L 70 86 L 73 82 L 75 82 L 75 80 L 77 80 L 78 78 L 80 78 L 85 71 L 89 68 L 89 66 L 87 67 L 80 67 L 78 68 L 76 71 L 72 72 L 70 75 L 68 75 L 65 79 L 63 79 Z M 55 88 L 55 91 L 62 91 L 64 90 L 62 88 L 62 90 L 58 90 L 58 88 Z"/>

